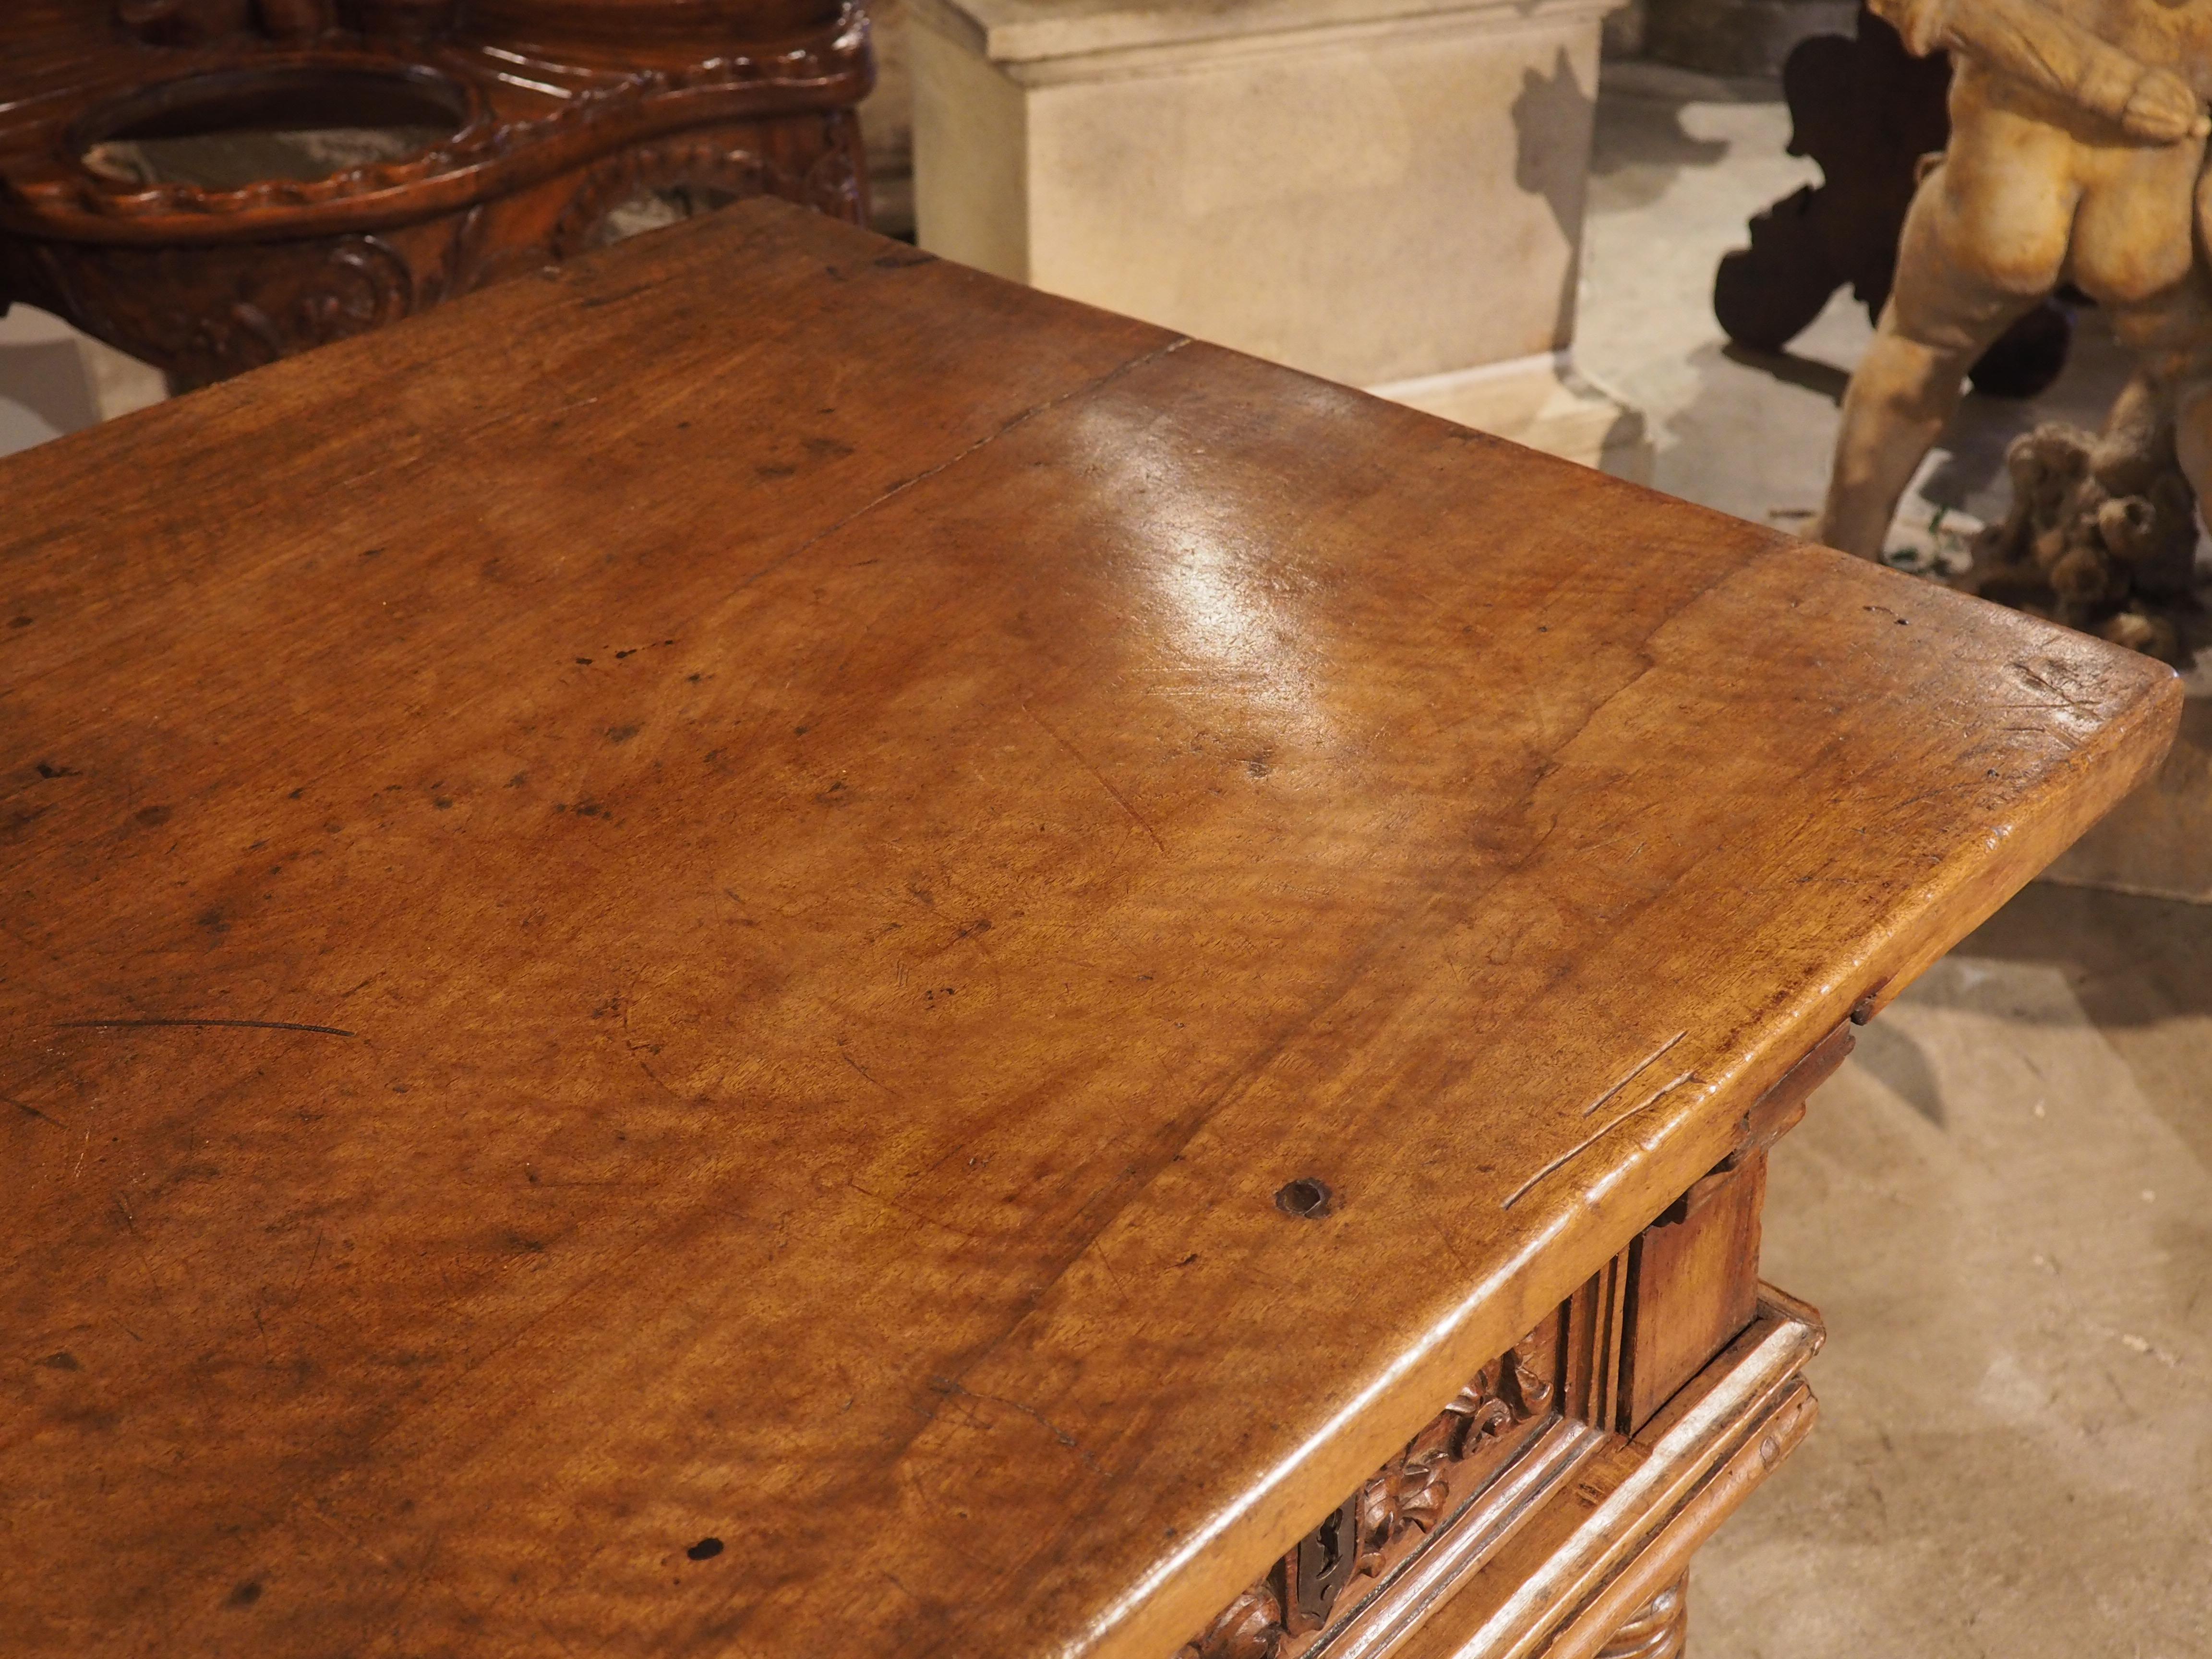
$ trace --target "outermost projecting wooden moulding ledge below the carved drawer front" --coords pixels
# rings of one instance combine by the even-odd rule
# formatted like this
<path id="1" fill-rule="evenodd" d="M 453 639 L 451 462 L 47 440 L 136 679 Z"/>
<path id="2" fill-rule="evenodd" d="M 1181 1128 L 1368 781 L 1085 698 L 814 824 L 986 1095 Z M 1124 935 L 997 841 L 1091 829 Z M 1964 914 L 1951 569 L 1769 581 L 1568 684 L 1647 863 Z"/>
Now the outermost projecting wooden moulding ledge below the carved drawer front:
<path id="1" fill-rule="evenodd" d="M 1458 1646 L 1458 1659 L 1524 1659 L 1540 1652 L 1559 1628 L 1562 1610 L 1590 1606 L 1606 1579 L 1621 1573 L 1741 1447 L 1750 1444 L 1756 1473 L 1765 1473 L 1759 1451 L 1767 1436 L 1756 1431 L 1776 1396 L 1798 1383 L 1798 1367 L 1820 1349 L 1823 1332 L 1772 1305 L 1761 1307 L 1761 1325 L 1765 1329 L 1754 1325 L 1747 1345 L 1717 1363 L 1725 1369 L 1708 1387 L 1683 1389 L 1683 1396 L 1694 1398 L 1659 1433 L 1644 1464 L 1588 1513 L 1542 1571 Z M 1717 1493 L 1714 1524 L 1734 1502 L 1728 1493 L 1750 1491 L 1750 1484 L 1754 1482 Z"/>

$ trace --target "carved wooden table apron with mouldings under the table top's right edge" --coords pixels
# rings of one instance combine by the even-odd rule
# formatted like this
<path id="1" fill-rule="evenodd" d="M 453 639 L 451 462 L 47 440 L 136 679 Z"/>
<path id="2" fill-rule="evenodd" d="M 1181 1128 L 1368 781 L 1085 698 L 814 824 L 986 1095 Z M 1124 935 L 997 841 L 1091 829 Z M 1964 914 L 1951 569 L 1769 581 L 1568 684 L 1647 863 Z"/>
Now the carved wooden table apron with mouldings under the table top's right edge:
<path id="1" fill-rule="evenodd" d="M 1767 1148 L 1851 1031 L 1805 1055 L 1710 1175 L 1179 1659 L 1681 1652 L 1690 1553 L 1818 1409 L 1798 1367 L 1820 1349 L 1820 1316 L 1759 1283 L 1759 1210 Z"/>

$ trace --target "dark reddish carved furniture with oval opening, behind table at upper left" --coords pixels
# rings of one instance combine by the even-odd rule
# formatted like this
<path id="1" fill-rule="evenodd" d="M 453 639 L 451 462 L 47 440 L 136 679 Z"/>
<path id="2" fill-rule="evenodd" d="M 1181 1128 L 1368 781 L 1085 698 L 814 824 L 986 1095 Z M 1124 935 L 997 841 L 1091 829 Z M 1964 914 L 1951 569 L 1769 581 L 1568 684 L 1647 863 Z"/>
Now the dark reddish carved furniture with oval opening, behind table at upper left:
<path id="1" fill-rule="evenodd" d="M 860 0 L 9 0 L 0 310 L 177 389 L 608 239 L 655 192 L 865 217 Z M 436 133 L 314 179 L 115 177 L 115 139 Z"/>

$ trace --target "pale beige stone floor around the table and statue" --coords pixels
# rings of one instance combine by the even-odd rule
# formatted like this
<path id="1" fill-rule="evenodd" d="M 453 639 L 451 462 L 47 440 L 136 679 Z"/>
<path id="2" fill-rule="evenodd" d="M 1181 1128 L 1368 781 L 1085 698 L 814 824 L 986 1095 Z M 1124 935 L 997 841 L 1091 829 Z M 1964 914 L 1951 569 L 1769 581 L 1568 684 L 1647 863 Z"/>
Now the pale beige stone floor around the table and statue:
<path id="1" fill-rule="evenodd" d="M 1790 529 L 1869 330 L 1838 299 L 1752 358 L 1712 323 L 1745 217 L 1816 177 L 1785 139 L 1772 88 L 1608 66 L 1577 356 L 1661 489 Z M 159 394 L 82 349 L 0 321 L 0 453 Z M 2117 383 L 2088 314 L 2039 405 L 1969 400 L 1920 495 L 1989 513 L 2004 442 Z M 2013 900 L 1778 1148 L 1765 1261 L 1829 1318 L 1825 1420 L 1703 1553 L 1699 1659 L 2212 1655 L 2212 907 Z"/>

